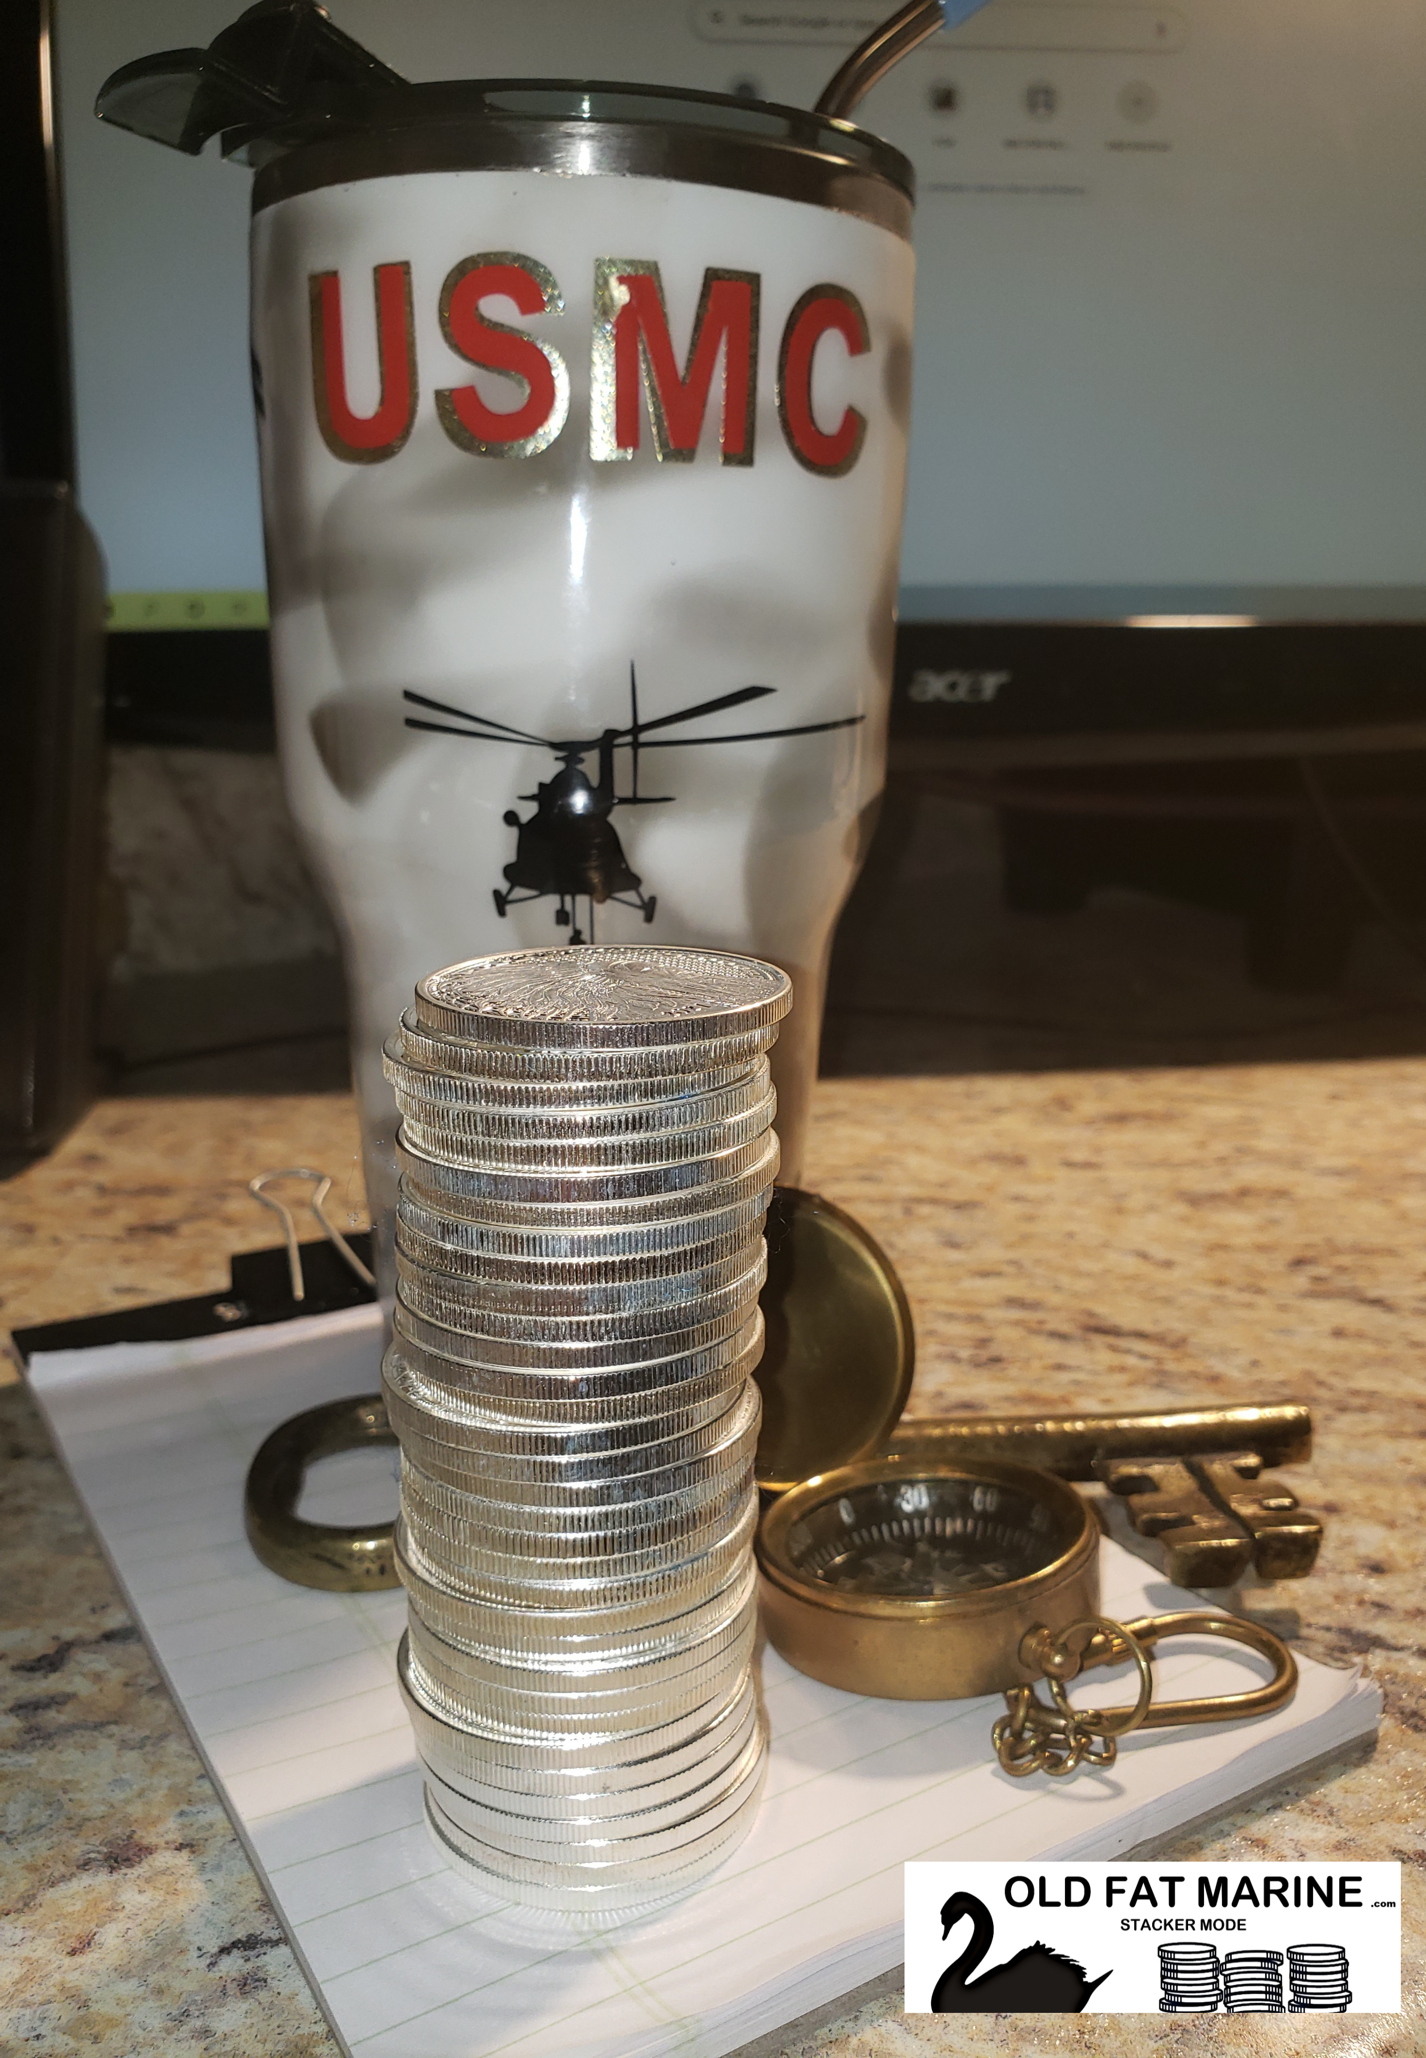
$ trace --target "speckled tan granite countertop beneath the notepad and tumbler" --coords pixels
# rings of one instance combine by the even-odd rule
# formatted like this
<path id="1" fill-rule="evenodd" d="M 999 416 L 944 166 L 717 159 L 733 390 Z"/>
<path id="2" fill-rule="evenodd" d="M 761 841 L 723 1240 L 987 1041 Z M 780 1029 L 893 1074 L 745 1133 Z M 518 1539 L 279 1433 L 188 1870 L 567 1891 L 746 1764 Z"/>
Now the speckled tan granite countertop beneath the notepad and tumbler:
<path id="1" fill-rule="evenodd" d="M 356 1214 L 354 1155 L 335 1095 L 101 1103 L 0 1185 L 0 1319 L 224 1286 L 230 1249 L 272 1243 L 243 1181 L 325 1165 L 342 1220 Z M 1300 1651 L 1366 1663 L 1387 1702 L 1381 1741 L 1171 1850 L 1401 1858 L 1403 2017 L 1241 2017 L 1210 2035 L 1241 2058 L 1420 2050 L 1426 1064 L 831 1080 L 807 1179 L 901 1270 L 918 1319 L 912 1412 L 1313 1406 L 1317 1453 L 1294 1484 L 1329 1517 L 1319 1570 L 1239 1599 Z M 0 2050 L 329 2054 L 19 1383 L 0 1391 Z M 1128 2058 L 1204 2035 L 1142 2017 L 901 2017 L 877 2000 L 815 2048 Z"/>

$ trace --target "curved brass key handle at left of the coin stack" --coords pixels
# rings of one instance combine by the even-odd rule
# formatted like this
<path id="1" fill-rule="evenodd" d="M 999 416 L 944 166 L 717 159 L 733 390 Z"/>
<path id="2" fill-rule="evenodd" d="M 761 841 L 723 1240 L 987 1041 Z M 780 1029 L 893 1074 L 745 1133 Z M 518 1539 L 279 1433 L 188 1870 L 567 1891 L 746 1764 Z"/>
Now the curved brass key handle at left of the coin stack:
<path id="1" fill-rule="evenodd" d="M 296 1513 L 307 1467 L 337 1451 L 395 1445 L 381 1393 L 327 1401 L 292 1416 L 259 1447 L 243 1486 L 247 1541 L 270 1572 L 325 1593 L 375 1593 L 397 1587 L 393 1523 L 344 1529 L 307 1523 Z"/>

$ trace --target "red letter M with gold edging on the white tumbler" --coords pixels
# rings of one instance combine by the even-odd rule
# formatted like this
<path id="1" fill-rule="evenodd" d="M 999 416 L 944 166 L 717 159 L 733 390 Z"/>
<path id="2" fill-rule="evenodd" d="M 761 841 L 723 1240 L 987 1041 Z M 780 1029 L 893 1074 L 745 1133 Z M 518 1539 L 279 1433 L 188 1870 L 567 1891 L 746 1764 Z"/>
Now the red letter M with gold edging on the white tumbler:
<path id="1" fill-rule="evenodd" d="M 704 272 L 693 338 L 679 372 L 658 265 L 597 259 L 593 457 L 609 461 L 634 455 L 640 445 L 642 385 L 658 457 L 691 463 L 722 356 L 718 457 L 724 465 L 753 463 L 759 286 L 757 272 Z"/>

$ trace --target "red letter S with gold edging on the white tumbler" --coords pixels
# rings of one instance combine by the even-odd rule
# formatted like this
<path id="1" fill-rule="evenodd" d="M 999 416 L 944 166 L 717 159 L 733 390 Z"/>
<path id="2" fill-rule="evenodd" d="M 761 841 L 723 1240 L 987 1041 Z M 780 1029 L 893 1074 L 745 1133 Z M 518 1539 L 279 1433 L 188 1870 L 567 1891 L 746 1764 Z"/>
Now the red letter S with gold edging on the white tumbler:
<path id="1" fill-rule="evenodd" d="M 463 257 L 440 288 L 440 331 L 467 364 L 484 364 L 523 387 L 516 407 L 488 407 L 473 385 L 442 387 L 436 416 L 447 436 L 479 457 L 535 457 L 570 414 L 570 375 L 551 344 L 484 313 L 488 298 L 512 300 L 521 315 L 562 315 L 564 296 L 535 257 L 484 251 Z"/>

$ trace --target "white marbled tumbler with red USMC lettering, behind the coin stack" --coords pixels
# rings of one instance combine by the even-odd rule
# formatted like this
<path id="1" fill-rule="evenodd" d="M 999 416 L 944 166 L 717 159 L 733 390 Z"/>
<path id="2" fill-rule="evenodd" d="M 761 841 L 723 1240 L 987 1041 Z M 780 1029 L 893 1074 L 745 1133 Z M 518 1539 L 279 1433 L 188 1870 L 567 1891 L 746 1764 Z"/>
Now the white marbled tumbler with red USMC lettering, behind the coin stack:
<path id="1" fill-rule="evenodd" d="M 253 210 L 280 751 L 383 1284 L 381 1045 L 488 951 L 782 965 L 794 1183 L 885 770 L 910 165 L 720 95 L 403 84 L 270 156 Z"/>

